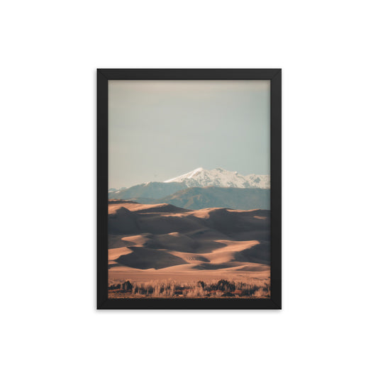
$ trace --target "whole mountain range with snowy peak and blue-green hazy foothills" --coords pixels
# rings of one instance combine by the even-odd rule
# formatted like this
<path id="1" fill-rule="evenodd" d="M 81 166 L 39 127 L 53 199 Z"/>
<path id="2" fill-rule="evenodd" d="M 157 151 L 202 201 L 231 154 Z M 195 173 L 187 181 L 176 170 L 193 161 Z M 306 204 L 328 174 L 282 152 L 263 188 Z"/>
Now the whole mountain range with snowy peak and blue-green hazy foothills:
<path id="1" fill-rule="evenodd" d="M 221 168 L 197 168 L 165 182 L 109 189 L 109 199 L 133 199 L 140 204 L 167 203 L 193 210 L 209 207 L 269 209 L 269 188 L 269 174 L 243 176 Z"/>

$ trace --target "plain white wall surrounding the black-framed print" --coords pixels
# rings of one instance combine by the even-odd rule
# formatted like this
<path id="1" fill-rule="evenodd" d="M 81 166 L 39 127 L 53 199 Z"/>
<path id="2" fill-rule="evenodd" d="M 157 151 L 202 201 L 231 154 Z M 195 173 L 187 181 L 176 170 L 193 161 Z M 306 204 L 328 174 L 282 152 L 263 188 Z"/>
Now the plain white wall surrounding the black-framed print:
<path id="1" fill-rule="evenodd" d="M 374 1 L 8 1 L 4 377 L 377 374 Z M 282 311 L 95 310 L 96 67 L 282 67 Z"/>

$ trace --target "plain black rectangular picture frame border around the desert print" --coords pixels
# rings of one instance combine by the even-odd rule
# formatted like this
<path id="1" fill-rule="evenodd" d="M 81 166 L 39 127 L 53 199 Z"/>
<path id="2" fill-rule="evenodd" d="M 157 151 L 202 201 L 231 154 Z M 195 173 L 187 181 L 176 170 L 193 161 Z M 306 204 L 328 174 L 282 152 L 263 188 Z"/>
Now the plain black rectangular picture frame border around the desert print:
<path id="1" fill-rule="evenodd" d="M 108 298 L 108 81 L 270 80 L 271 297 L 270 299 Z M 282 70 L 98 69 L 97 70 L 97 309 L 282 308 Z"/>

